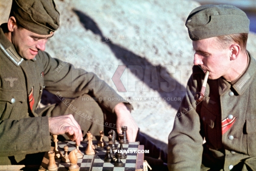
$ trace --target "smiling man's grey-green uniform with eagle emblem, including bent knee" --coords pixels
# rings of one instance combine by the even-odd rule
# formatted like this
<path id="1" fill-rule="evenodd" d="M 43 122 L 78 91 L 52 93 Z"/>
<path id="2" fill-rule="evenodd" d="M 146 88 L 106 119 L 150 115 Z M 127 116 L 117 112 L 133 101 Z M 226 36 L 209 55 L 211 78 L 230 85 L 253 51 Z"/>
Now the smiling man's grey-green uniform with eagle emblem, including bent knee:
<path id="1" fill-rule="evenodd" d="M 5 28 L 4 25 L 1 27 Z M 103 122 L 103 116 L 99 116 L 103 115 L 99 106 L 113 113 L 116 104 L 126 102 L 94 73 L 75 69 L 67 62 L 51 58 L 46 52 L 39 51 L 33 60 L 21 58 L 4 35 L 2 28 L 0 29 L 0 163 L 7 156 L 15 155 L 19 158 L 17 157 L 19 155 L 49 151 L 51 141 L 48 116 L 73 112 L 81 129 L 84 128 L 86 133 L 86 129 L 92 128 L 92 125 L 95 128 L 98 126 L 103 128 L 103 123 L 99 123 Z M 62 102 L 48 107 L 44 111 L 44 116 L 38 117 L 41 114 L 36 113 L 36 108 L 43 89 L 58 96 Z M 87 95 L 88 93 L 90 96 Z M 97 100 L 85 99 L 91 96 L 96 97 Z M 121 100 L 112 101 L 108 98 Z M 20 157 L 21 159 L 23 157 Z"/>

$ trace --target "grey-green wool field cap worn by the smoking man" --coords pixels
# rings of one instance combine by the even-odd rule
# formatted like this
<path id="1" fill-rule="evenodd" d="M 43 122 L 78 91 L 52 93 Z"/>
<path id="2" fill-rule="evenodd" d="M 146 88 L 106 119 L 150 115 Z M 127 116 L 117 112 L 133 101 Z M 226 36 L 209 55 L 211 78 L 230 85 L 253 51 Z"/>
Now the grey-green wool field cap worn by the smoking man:
<path id="1" fill-rule="evenodd" d="M 203 5 L 195 8 L 186 20 L 192 41 L 235 33 L 249 33 L 250 20 L 231 5 Z"/>

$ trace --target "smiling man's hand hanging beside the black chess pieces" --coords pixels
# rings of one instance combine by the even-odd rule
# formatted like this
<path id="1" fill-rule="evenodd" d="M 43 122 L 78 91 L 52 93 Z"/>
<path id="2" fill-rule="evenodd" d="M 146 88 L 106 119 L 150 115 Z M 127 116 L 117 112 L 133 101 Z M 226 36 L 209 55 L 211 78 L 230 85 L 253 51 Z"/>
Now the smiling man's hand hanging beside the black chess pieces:
<path id="1" fill-rule="evenodd" d="M 123 103 L 116 104 L 114 108 L 114 112 L 116 113 L 116 127 L 117 133 L 122 133 L 121 126 L 127 126 L 127 139 L 129 142 L 134 142 L 138 132 L 138 126 L 131 116 L 130 110 Z"/>

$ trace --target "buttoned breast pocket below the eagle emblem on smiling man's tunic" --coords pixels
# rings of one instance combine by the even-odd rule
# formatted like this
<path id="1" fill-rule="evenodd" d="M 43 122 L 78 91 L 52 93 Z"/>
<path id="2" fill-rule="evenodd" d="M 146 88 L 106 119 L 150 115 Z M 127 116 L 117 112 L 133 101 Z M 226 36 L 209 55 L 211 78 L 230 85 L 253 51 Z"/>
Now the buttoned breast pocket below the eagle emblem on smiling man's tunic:
<path id="1" fill-rule="evenodd" d="M 27 117 L 26 91 L 0 90 L 0 120 Z"/>

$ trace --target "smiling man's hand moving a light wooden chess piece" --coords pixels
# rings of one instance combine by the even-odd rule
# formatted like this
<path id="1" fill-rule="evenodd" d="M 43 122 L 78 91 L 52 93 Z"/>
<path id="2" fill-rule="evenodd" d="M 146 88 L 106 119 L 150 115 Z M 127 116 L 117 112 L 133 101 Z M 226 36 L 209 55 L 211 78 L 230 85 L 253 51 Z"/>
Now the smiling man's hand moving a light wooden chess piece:
<path id="1" fill-rule="evenodd" d="M 73 115 L 57 116 L 49 118 L 49 130 L 52 135 L 66 134 L 72 141 L 80 145 L 83 140 L 80 125 L 76 122 Z"/>

